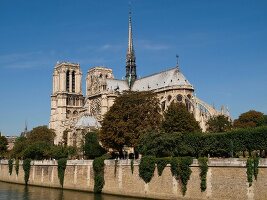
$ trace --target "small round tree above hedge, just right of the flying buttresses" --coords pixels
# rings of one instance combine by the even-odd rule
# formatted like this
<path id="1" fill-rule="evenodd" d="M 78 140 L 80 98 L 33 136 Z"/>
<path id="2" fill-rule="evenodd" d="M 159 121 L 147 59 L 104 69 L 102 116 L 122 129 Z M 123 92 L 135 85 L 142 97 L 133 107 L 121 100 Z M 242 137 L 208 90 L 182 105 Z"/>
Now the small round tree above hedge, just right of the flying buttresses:
<path id="1" fill-rule="evenodd" d="M 226 131 L 231 130 L 232 123 L 228 119 L 228 117 L 224 115 L 218 115 L 218 116 L 211 117 L 207 121 L 207 126 L 208 126 L 208 132 L 220 133 L 220 132 L 226 132 Z"/>

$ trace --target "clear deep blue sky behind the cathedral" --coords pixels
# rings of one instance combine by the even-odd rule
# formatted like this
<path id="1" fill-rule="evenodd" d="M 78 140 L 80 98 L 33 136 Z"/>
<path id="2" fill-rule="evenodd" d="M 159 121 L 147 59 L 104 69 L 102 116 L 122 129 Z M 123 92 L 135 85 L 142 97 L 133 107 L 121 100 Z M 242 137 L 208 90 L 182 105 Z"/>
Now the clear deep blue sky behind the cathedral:
<path id="1" fill-rule="evenodd" d="M 176 65 L 233 119 L 267 114 L 266 0 L 132 0 L 138 76 Z M 129 1 L 0 0 L 0 131 L 48 125 L 57 61 L 125 76 Z"/>

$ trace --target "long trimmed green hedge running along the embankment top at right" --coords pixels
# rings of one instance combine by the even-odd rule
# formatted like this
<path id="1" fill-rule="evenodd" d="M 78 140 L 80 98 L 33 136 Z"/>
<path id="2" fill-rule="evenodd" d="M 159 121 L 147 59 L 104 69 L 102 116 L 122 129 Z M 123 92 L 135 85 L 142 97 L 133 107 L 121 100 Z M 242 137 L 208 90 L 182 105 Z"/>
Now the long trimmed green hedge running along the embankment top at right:
<path id="1" fill-rule="evenodd" d="M 267 126 L 234 129 L 225 133 L 148 132 L 140 138 L 138 151 L 155 157 L 230 157 L 243 151 L 266 150 Z"/>

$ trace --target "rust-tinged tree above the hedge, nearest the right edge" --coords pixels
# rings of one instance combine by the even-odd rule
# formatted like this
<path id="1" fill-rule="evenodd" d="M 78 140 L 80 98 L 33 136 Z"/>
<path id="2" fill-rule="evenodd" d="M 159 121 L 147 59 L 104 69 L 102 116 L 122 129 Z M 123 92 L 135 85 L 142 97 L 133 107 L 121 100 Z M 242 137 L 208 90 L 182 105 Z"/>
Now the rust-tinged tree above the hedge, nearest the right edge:
<path id="1" fill-rule="evenodd" d="M 238 119 L 234 120 L 234 127 L 236 128 L 253 128 L 262 125 L 264 125 L 264 115 L 255 110 L 242 113 Z"/>

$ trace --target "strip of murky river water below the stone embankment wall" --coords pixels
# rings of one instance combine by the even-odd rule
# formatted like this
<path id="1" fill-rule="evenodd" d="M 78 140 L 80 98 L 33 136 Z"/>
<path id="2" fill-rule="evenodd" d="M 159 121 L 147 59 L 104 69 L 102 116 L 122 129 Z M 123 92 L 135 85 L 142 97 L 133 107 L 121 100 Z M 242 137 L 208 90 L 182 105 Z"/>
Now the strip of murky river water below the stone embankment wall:
<path id="1" fill-rule="evenodd" d="M 0 182 L 0 200 L 141 200 Z"/>

